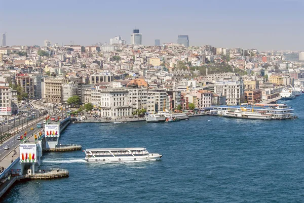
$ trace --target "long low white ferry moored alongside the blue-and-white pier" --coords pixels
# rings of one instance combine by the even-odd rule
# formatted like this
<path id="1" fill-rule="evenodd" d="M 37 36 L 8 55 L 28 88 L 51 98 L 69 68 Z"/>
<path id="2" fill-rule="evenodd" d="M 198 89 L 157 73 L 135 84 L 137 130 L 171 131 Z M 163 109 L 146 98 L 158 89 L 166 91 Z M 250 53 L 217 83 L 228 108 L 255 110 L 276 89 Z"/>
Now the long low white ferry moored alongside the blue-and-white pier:
<path id="1" fill-rule="evenodd" d="M 245 118 L 245 119 L 262 119 L 262 120 L 271 120 L 272 115 L 269 113 L 263 112 L 250 112 L 243 110 L 223 110 L 222 115 L 226 117 L 236 117 L 236 118 Z"/>

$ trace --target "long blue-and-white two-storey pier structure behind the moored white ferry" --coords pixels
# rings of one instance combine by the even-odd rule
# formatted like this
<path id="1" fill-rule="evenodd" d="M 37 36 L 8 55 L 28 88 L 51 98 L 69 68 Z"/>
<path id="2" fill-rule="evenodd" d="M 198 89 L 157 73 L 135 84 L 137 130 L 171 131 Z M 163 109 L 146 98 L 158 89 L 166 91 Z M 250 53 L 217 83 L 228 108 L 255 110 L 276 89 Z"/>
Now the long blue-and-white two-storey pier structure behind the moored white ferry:
<path id="1" fill-rule="evenodd" d="M 270 114 L 272 119 L 293 119 L 296 116 L 293 115 L 293 108 L 286 104 L 261 104 L 257 103 L 254 105 L 241 104 L 240 106 L 212 106 L 213 115 L 222 115 L 226 111 L 243 111 L 243 112 L 256 112 Z M 237 112 L 238 112 L 237 111 Z M 240 113 L 239 113 L 240 114 Z M 231 114 L 230 114 L 231 115 Z M 245 115 L 243 113 L 243 115 Z M 253 114 L 252 114 L 253 115 Z M 257 114 L 258 115 L 258 114 Z M 264 115 L 264 114 L 263 114 Z"/>

